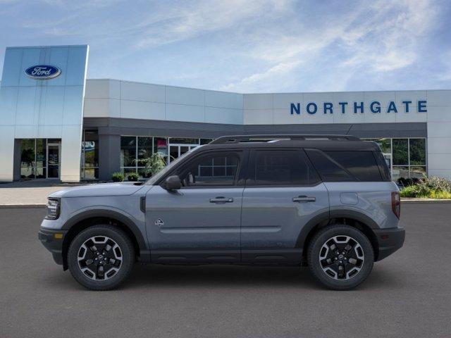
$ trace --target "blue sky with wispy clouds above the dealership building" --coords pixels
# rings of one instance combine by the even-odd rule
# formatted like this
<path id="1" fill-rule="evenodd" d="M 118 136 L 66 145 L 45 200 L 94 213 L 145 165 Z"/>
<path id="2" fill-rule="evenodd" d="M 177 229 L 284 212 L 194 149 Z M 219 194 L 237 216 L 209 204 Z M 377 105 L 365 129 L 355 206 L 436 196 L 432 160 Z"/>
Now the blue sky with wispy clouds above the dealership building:
<path id="1" fill-rule="evenodd" d="M 228 92 L 451 89 L 451 1 L 0 0 L 6 46 L 89 44 L 88 78 Z"/>

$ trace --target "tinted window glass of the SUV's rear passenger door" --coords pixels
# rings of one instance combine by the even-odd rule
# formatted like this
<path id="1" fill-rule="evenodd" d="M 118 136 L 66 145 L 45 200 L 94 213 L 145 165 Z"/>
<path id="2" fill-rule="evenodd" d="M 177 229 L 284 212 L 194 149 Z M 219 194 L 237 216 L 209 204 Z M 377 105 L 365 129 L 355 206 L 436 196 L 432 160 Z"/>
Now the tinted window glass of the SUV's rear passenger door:
<path id="1" fill-rule="evenodd" d="M 302 150 L 259 150 L 253 153 L 250 185 L 312 185 L 320 182 Z M 252 170 L 253 169 L 253 170 Z"/>

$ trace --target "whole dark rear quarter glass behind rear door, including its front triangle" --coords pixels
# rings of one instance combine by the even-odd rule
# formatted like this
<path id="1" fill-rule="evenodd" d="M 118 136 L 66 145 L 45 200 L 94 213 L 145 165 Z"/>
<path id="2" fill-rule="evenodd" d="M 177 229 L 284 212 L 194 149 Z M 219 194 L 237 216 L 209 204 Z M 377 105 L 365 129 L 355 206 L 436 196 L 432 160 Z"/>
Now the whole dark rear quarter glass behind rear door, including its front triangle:
<path id="1" fill-rule="evenodd" d="M 307 151 L 326 182 L 380 182 L 379 165 L 373 151 Z"/>

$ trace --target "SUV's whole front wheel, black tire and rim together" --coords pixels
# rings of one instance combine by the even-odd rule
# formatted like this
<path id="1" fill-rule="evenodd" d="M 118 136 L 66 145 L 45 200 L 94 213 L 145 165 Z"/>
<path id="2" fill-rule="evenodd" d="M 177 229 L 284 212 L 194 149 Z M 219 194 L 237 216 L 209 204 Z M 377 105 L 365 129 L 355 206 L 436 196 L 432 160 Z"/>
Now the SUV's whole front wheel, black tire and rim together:
<path id="1" fill-rule="evenodd" d="M 132 270 L 135 249 L 125 232 L 111 225 L 93 225 L 70 243 L 68 267 L 75 280 L 96 291 L 118 287 Z"/>

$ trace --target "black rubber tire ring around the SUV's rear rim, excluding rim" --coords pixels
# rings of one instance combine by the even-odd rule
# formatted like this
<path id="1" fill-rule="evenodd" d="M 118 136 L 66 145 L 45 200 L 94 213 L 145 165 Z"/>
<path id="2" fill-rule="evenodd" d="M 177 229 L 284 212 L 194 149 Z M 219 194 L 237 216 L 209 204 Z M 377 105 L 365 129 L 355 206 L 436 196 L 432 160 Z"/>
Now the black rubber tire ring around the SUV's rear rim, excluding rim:
<path id="1" fill-rule="evenodd" d="M 324 273 L 319 262 L 319 252 L 323 244 L 326 243 L 330 237 L 340 235 L 350 236 L 356 239 L 360 246 L 362 246 L 365 255 L 362 270 L 350 280 L 334 280 Z M 364 282 L 366 277 L 371 273 L 374 263 L 373 246 L 368 237 L 366 237 L 363 232 L 350 225 L 329 225 L 328 227 L 321 229 L 311 240 L 307 255 L 309 269 L 312 275 L 314 275 L 316 280 L 319 280 L 321 284 L 334 290 L 348 290 L 357 287 Z"/>

